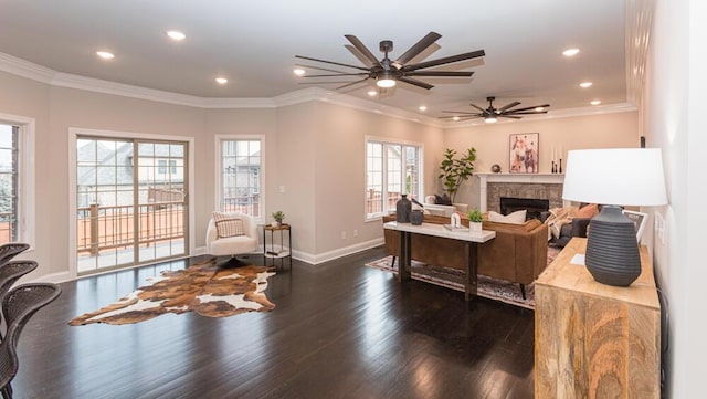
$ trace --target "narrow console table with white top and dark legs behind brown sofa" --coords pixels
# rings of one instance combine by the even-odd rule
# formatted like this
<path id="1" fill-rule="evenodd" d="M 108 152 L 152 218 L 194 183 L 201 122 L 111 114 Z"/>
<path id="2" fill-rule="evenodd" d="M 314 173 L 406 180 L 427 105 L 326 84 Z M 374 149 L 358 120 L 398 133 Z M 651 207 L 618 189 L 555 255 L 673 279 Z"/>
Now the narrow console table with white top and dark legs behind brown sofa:
<path id="1" fill-rule="evenodd" d="M 412 253 L 411 234 L 423 234 L 443 237 L 445 239 L 460 240 L 465 242 L 466 246 L 466 270 L 464 279 L 464 300 L 468 301 L 472 295 L 476 296 L 477 291 L 477 272 L 478 266 L 478 244 L 496 238 L 496 232 L 483 230 L 479 233 L 469 233 L 465 231 L 452 231 L 444 228 L 443 224 L 422 223 L 414 225 L 411 223 L 387 222 L 383 223 L 384 229 L 397 230 L 400 232 L 400 261 L 398 263 L 398 280 L 410 280 L 410 261 Z"/>

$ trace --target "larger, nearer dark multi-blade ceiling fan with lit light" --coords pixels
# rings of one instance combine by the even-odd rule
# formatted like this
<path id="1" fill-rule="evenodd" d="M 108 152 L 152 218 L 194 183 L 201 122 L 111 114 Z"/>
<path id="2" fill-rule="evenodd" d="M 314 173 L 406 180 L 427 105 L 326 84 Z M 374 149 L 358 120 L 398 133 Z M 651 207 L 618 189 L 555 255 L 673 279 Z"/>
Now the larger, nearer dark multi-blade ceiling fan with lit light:
<path id="1" fill-rule="evenodd" d="M 351 64 L 344 64 L 334 61 L 326 61 L 319 59 L 313 59 L 309 56 L 295 55 L 297 59 L 321 62 L 326 64 L 333 64 L 338 66 L 345 66 L 349 69 L 355 69 L 361 72 L 346 72 L 346 71 L 337 71 L 325 67 L 312 66 L 312 65 L 303 65 L 298 64 L 298 66 L 309 67 L 313 70 L 327 71 L 333 72 L 333 74 L 315 74 L 315 75 L 304 75 L 303 77 L 345 77 L 345 76 L 361 76 L 362 78 L 356 80 L 354 82 L 319 82 L 319 83 L 345 83 L 338 87 L 345 88 L 358 83 L 362 83 L 369 78 L 376 81 L 376 85 L 382 88 L 389 88 L 395 86 L 397 82 L 408 83 L 418 87 L 422 87 L 425 90 L 430 90 L 434 87 L 433 85 L 422 82 L 416 76 L 434 76 L 434 77 L 469 77 L 474 74 L 474 72 L 457 72 L 457 71 L 423 71 L 429 67 L 440 66 L 445 64 L 452 64 L 460 61 L 476 59 L 479 56 L 486 55 L 484 50 L 477 50 L 469 53 L 463 53 L 457 55 L 445 56 L 436 60 L 419 62 L 414 64 L 407 64 L 410 60 L 420 55 L 425 49 L 432 45 L 437 39 L 442 38 L 441 34 L 436 32 L 430 32 L 424 38 L 422 38 L 418 43 L 408 49 L 402 55 L 398 57 L 395 61 L 391 61 L 388 57 L 388 53 L 393 51 L 393 42 L 390 40 L 383 40 L 380 42 L 379 49 L 384 54 L 382 60 L 378 60 L 376 55 L 373 55 L 367 48 L 361 43 L 358 38 L 352 34 L 346 34 L 345 38 L 360 52 L 363 59 L 369 61 L 368 65 L 359 66 Z M 347 49 L 351 50 L 347 46 Z M 352 51 L 352 50 L 351 50 Z M 355 54 L 356 55 L 356 54 Z"/>

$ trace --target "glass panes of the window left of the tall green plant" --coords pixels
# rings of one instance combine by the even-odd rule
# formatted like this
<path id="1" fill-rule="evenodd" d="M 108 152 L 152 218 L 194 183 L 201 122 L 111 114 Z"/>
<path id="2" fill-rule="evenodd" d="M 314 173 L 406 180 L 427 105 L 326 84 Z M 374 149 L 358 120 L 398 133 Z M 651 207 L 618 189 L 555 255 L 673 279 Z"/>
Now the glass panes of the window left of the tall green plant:
<path id="1" fill-rule="evenodd" d="M 422 146 L 368 139 L 366 143 L 366 218 L 395 210 L 401 193 L 422 196 Z"/>

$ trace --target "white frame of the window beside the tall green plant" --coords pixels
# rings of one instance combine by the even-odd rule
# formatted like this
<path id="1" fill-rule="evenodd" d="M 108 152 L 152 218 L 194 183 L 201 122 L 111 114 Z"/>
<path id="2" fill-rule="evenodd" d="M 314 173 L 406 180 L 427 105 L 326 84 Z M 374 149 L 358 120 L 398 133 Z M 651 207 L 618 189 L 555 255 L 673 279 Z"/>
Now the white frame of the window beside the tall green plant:
<path id="1" fill-rule="evenodd" d="M 382 144 L 382 156 L 381 156 L 381 174 L 382 174 L 382 181 L 381 181 L 381 186 L 382 186 L 382 192 L 381 192 L 381 206 L 382 206 L 382 210 L 380 212 L 372 212 L 369 213 L 368 212 L 368 187 L 369 187 L 369 181 L 368 181 L 368 160 L 369 160 L 369 154 L 368 154 L 368 145 L 370 143 L 374 143 L 374 144 Z M 402 185 L 402 189 L 404 191 L 407 191 L 407 185 L 405 185 L 405 171 L 407 171 L 407 156 L 405 156 L 405 148 L 410 148 L 410 147 L 414 147 L 418 149 L 418 181 L 416 181 L 416 186 L 418 186 L 418 192 L 413 193 L 416 195 L 415 199 L 421 201 L 421 198 L 424 196 L 424 144 L 422 143 L 418 143 L 418 141 L 410 141 L 410 140 L 400 140 L 400 139 L 393 139 L 393 138 L 387 138 L 387 137 L 377 137 L 377 136 L 366 136 L 365 137 L 365 141 L 363 141 L 363 176 L 365 176 L 365 190 L 363 190 L 363 218 L 366 222 L 369 221 L 377 221 L 380 220 L 383 216 L 386 214 L 390 214 L 391 210 L 390 209 L 384 209 L 386 203 L 384 203 L 384 198 L 388 197 L 388 146 L 401 146 L 401 185 Z M 413 185 L 414 186 L 414 185 Z M 405 192 L 408 193 L 408 192 Z"/>

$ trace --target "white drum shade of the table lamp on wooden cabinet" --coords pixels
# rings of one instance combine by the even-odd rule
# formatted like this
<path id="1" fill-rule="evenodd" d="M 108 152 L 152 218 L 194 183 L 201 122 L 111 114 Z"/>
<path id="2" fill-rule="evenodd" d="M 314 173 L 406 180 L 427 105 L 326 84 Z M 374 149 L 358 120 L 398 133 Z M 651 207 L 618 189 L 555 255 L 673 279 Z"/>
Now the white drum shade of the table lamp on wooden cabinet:
<path id="1" fill-rule="evenodd" d="M 571 150 L 567 156 L 562 198 L 614 206 L 665 204 L 661 149 Z"/>

